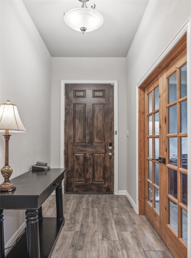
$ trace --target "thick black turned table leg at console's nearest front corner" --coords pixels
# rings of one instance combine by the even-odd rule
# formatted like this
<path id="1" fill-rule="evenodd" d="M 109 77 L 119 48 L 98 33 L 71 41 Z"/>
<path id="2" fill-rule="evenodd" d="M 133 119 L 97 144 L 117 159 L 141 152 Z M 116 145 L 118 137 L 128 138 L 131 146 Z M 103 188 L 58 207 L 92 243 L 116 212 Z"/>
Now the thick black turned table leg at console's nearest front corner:
<path id="1" fill-rule="evenodd" d="M 29 258 L 40 258 L 38 210 L 26 210 L 27 248 Z"/>

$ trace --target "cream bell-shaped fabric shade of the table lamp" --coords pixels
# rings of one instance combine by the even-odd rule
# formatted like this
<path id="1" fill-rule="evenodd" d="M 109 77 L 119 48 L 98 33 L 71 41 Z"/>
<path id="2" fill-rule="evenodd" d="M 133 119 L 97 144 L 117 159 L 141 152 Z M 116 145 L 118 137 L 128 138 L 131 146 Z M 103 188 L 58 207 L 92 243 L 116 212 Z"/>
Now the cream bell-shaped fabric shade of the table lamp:
<path id="1" fill-rule="evenodd" d="M 6 104 L 0 106 L 0 132 L 27 132 L 21 122 L 17 106 L 7 101 Z"/>

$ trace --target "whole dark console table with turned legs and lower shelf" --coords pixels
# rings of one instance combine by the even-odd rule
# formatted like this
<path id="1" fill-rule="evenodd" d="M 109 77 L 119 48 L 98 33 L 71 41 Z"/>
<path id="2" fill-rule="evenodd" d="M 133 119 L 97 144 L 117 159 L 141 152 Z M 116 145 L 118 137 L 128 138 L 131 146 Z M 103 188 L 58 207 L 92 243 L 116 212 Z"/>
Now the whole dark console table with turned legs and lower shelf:
<path id="1" fill-rule="evenodd" d="M 0 258 L 4 253 L 4 209 L 26 210 L 26 232 L 6 258 L 48 258 L 51 256 L 61 227 L 64 225 L 62 180 L 66 169 L 32 170 L 15 177 L 16 189 L 0 192 L 1 231 Z M 42 216 L 42 204 L 56 190 L 56 218 Z"/>

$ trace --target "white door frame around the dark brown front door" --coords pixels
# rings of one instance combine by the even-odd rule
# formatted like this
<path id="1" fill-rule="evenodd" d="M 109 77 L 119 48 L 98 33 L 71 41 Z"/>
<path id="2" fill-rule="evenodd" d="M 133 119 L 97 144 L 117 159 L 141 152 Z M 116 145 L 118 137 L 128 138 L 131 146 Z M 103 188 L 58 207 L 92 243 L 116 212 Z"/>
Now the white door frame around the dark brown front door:
<path id="1" fill-rule="evenodd" d="M 60 167 L 64 168 L 64 90 L 65 84 L 113 84 L 114 90 L 114 194 L 118 194 L 118 81 L 61 80 L 60 94 Z"/>

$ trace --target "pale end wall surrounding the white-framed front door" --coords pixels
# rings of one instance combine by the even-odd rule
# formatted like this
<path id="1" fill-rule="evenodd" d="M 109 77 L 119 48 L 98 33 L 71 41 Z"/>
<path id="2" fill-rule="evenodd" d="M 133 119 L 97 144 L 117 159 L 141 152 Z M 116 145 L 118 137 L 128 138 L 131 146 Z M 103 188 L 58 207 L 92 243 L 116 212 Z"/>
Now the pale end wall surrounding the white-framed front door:
<path id="1" fill-rule="evenodd" d="M 126 58 L 52 58 L 51 164 L 60 166 L 60 81 L 118 80 L 118 190 L 126 190 Z"/>

